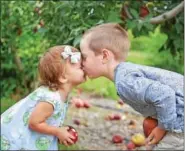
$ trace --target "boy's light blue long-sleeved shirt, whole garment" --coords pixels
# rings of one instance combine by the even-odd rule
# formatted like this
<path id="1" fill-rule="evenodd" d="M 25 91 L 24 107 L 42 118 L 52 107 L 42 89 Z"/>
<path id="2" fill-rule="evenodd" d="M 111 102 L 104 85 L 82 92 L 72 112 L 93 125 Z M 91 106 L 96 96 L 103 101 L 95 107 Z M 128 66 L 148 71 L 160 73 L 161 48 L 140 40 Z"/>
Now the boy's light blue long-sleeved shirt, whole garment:
<path id="1" fill-rule="evenodd" d="M 166 130 L 184 132 L 183 76 L 164 69 L 122 62 L 114 77 L 120 98 Z"/>

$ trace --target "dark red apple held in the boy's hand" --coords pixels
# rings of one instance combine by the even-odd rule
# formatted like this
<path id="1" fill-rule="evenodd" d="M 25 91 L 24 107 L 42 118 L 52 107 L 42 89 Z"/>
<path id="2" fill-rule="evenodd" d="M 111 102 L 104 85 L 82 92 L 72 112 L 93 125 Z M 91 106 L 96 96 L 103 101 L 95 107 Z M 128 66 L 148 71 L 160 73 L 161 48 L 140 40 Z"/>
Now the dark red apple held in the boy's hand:
<path id="1" fill-rule="evenodd" d="M 158 125 L 158 121 L 154 118 L 147 117 L 143 121 L 143 131 L 145 137 L 148 137 L 152 130 Z"/>

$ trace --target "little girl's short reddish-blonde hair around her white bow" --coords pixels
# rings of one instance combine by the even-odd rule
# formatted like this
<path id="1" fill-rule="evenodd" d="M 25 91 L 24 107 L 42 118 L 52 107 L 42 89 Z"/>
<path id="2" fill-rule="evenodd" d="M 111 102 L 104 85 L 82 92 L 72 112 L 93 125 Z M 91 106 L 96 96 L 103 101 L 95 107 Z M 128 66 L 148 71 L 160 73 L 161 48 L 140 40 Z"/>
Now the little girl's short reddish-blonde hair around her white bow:
<path id="1" fill-rule="evenodd" d="M 48 86 L 52 90 L 58 90 L 61 87 L 59 78 L 65 73 L 65 60 L 61 55 L 64 48 L 65 45 L 51 47 L 40 58 L 38 65 L 40 86 Z M 71 47 L 71 50 L 78 51 L 74 47 Z"/>

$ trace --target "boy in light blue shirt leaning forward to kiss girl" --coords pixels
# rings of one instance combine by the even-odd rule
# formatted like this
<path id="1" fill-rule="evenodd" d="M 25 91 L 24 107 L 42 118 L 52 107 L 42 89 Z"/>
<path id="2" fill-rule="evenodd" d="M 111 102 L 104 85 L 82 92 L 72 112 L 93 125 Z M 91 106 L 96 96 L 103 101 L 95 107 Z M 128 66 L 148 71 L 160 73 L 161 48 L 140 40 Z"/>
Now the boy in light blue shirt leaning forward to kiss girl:
<path id="1" fill-rule="evenodd" d="M 80 48 L 90 78 L 107 77 L 119 97 L 145 117 L 158 120 L 146 145 L 183 149 L 184 94 L 181 74 L 126 62 L 130 41 L 119 25 L 107 23 L 85 32 Z"/>

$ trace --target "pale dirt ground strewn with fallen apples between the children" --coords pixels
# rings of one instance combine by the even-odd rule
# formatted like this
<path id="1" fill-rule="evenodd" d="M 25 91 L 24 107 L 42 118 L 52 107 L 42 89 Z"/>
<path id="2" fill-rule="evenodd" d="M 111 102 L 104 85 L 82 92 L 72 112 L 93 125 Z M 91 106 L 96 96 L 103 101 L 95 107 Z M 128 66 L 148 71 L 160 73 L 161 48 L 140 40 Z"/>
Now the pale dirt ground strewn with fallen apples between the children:
<path id="1" fill-rule="evenodd" d="M 118 101 L 84 94 L 82 100 L 87 100 L 90 108 L 77 108 L 69 105 L 67 119 L 64 124 L 73 126 L 78 132 L 76 145 L 84 150 L 126 150 L 127 144 L 136 133 L 143 134 L 143 117 L 126 104 Z M 108 120 L 110 114 L 119 114 L 120 120 Z M 78 121 L 80 124 L 75 124 Z M 121 135 L 122 143 L 112 142 L 114 135 Z M 136 147 L 135 150 L 144 149 Z"/>

